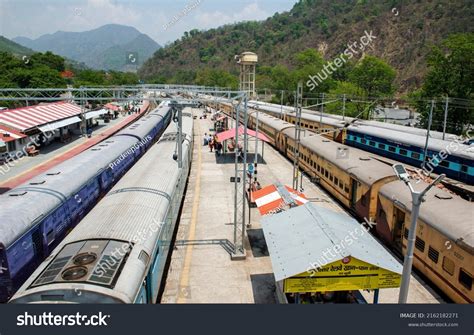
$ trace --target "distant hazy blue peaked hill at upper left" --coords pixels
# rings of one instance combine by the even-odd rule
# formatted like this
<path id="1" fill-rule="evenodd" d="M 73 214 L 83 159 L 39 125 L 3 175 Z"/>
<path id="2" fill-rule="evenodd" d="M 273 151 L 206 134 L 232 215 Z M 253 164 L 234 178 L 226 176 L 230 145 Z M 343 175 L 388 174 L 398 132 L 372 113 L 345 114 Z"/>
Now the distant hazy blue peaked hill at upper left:
<path id="1" fill-rule="evenodd" d="M 84 32 L 57 31 L 37 39 L 19 36 L 13 41 L 35 51 L 51 51 L 93 69 L 119 71 L 140 66 L 160 48 L 148 35 L 119 24 Z"/>

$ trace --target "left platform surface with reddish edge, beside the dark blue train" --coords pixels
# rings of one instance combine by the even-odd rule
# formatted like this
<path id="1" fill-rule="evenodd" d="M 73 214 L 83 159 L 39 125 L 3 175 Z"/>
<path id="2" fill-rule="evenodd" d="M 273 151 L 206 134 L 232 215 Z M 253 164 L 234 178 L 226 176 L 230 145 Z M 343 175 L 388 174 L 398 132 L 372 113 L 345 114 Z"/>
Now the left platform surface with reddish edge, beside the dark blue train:
<path id="1" fill-rule="evenodd" d="M 40 152 L 38 156 L 22 157 L 13 161 L 9 170 L 6 170 L 7 167 L 0 165 L 0 168 L 3 167 L 0 172 L 0 194 L 109 138 L 143 115 L 147 108 L 148 104 L 142 107 L 139 114 L 125 115 L 111 120 L 110 124 L 105 124 L 105 126 L 94 131 L 91 138 L 78 137 L 68 144 L 54 143 L 45 148 L 43 153 Z M 3 172 L 4 170 L 5 172 Z"/>

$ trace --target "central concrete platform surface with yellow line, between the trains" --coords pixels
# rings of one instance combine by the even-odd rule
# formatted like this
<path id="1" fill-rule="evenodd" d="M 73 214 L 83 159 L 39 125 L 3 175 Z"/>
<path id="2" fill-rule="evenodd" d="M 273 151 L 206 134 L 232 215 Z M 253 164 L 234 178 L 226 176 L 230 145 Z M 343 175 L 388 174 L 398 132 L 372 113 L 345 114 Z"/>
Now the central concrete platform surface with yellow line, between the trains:
<path id="1" fill-rule="evenodd" d="M 234 156 L 216 158 L 208 146 L 203 146 L 203 136 L 210 133 L 213 122 L 210 117 L 200 119 L 198 110 L 195 113 L 193 163 L 161 303 L 277 303 L 275 276 L 257 208 L 251 208 L 246 258 L 231 260 L 234 184 L 229 180 L 234 176 Z M 249 153 L 254 152 L 254 144 L 250 139 Z M 259 147 L 261 153 L 261 143 Z M 261 159 L 257 176 L 262 187 L 292 185 L 292 162 L 268 144 Z M 306 176 L 303 188 L 315 205 L 346 213 Z M 398 289 L 387 289 L 378 302 L 390 303 L 397 297 Z M 441 301 L 414 277 L 408 299 L 418 303 Z M 366 300 L 373 301 L 369 295 Z"/>

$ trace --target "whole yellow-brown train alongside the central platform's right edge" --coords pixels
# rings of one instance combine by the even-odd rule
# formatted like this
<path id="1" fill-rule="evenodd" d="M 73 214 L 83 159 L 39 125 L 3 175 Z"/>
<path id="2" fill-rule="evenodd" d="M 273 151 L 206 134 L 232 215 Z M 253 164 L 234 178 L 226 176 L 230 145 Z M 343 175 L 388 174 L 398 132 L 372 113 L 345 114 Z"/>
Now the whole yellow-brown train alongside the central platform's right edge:
<path id="1" fill-rule="evenodd" d="M 232 111 L 232 108 L 229 108 Z M 231 114 L 230 114 L 231 115 Z M 255 128 L 256 112 L 248 126 Z M 259 129 L 283 155 L 293 159 L 295 126 L 259 113 Z M 301 168 L 361 220 L 375 222 L 375 233 L 405 253 L 411 196 L 392 167 L 370 153 L 303 130 Z M 416 187 L 426 187 L 419 182 Z M 473 204 L 441 189 L 431 190 L 420 209 L 414 267 L 458 303 L 473 303 Z"/>

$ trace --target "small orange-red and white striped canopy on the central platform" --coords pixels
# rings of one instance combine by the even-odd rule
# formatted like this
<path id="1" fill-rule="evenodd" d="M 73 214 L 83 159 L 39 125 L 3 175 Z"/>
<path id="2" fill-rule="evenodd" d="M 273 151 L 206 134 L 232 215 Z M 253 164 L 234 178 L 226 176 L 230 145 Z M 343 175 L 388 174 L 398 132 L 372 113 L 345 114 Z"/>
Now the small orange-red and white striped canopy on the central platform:
<path id="1" fill-rule="evenodd" d="M 298 206 L 308 202 L 308 199 L 306 199 L 306 196 L 303 193 L 286 185 L 285 188 Z M 285 210 L 285 207 L 287 206 L 276 185 L 269 185 L 261 190 L 253 192 L 253 199 L 255 199 L 255 203 L 257 204 L 261 215 L 281 212 Z"/>

